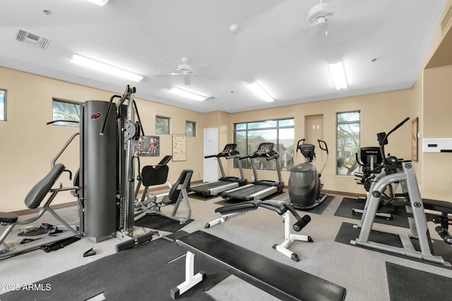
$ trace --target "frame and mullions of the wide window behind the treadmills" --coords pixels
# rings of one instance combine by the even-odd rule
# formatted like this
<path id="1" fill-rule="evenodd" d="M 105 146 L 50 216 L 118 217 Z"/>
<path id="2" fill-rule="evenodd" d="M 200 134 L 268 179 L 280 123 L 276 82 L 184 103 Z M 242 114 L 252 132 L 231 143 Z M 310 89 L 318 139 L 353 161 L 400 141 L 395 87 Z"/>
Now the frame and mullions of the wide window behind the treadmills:
<path id="1" fill-rule="evenodd" d="M 287 121 L 290 120 L 292 121 L 292 125 L 280 125 L 281 121 Z M 275 122 L 275 126 L 270 126 L 268 128 L 250 128 L 249 125 L 253 125 L 253 124 L 258 124 L 258 123 L 273 123 Z M 237 126 L 240 126 L 240 129 L 237 130 Z M 234 143 L 237 143 L 237 133 L 245 133 L 245 145 L 249 145 L 249 132 L 253 132 L 253 131 L 258 131 L 258 130 L 276 130 L 276 142 L 275 142 L 275 150 L 277 152 L 279 152 L 280 154 L 282 154 L 282 152 L 280 151 L 279 147 L 281 145 L 280 142 L 280 130 L 284 130 L 284 129 L 292 129 L 293 130 L 293 134 L 294 137 L 292 138 L 293 140 L 293 153 L 292 153 L 292 165 L 287 165 L 285 168 L 283 166 L 283 162 L 281 160 L 283 160 L 283 156 L 280 156 L 280 168 L 281 171 L 290 171 L 290 166 L 293 166 L 294 164 L 294 156 L 295 156 L 295 118 L 294 117 L 284 117 L 284 118 L 268 118 L 267 120 L 261 120 L 261 121 L 244 121 L 244 122 L 239 122 L 239 123 L 234 123 L 233 124 L 233 132 L 234 132 Z M 268 141 L 271 142 L 271 141 Z M 237 143 L 238 144 L 238 143 Z M 287 149 L 289 149 L 289 147 L 287 147 Z M 246 154 L 242 154 L 242 152 L 240 153 L 241 156 L 247 156 L 249 149 L 248 147 L 246 147 Z M 287 159 L 287 156 L 286 156 Z M 290 161 L 290 158 L 287 160 L 287 162 Z M 262 166 L 265 166 L 266 164 L 261 164 Z M 236 162 L 234 161 L 234 168 L 238 168 Z M 247 159 L 246 161 L 242 161 L 242 168 L 243 169 L 251 169 L 251 162 L 249 162 L 249 160 Z M 256 164 L 256 169 L 257 170 L 266 170 L 266 171 L 276 171 L 276 168 L 272 168 L 272 169 L 268 169 L 268 168 L 259 168 L 259 164 Z M 286 170 L 287 169 L 287 170 Z"/>

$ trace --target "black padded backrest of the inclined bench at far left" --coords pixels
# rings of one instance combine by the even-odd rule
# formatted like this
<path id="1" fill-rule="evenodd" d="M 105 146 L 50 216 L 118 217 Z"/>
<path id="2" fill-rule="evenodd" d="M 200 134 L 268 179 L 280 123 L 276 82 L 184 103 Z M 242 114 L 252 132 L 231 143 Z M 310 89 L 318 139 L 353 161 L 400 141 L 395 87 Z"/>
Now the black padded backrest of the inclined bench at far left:
<path id="1" fill-rule="evenodd" d="M 55 164 L 54 168 L 47 173 L 42 180 L 40 180 L 25 197 L 25 205 L 30 209 L 35 209 L 40 206 L 42 199 L 47 195 L 47 192 L 52 188 L 61 173 L 64 171 L 64 165 Z"/>

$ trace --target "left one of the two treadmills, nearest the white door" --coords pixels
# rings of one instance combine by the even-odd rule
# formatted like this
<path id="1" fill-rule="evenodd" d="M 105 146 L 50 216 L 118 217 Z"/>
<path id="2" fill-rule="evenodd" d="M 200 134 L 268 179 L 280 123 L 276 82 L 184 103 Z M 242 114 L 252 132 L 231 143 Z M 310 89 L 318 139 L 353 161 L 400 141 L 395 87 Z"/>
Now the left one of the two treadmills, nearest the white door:
<path id="1" fill-rule="evenodd" d="M 237 165 L 239 166 L 240 177 L 230 177 L 225 176 L 225 170 L 223 169 L 221 158 L 225 159 L 234 159 L 240 158 L 240 153 L 236 150 L 237 144 L 231 143 L 225 146 L 225 149 L 222 150 L 219 154 L 213 154 L 210 156 L 204 156 L 204 158 L 218 158 L 218 165 L 220 166 L 221 178 L 216 182 L 202 183 L 199 185 L 193 185 L 190 187 L 190 191 L 195 192 L 196 194 L 203 195 L 204 197 L 213 197 L 218 195 L 219 193 L 230 190 L 232 188 L 237 188 L 242 185 L 246 185 L 247 180 L 244 177 L 242 162 L 237 160 Z"/>

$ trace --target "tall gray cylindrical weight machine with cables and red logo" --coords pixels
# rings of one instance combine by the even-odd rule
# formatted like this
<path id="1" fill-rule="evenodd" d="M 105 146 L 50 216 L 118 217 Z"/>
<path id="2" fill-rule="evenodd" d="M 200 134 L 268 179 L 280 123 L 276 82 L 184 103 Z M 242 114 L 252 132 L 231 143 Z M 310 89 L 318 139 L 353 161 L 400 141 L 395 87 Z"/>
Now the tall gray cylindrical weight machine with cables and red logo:
<path id="1" fill-rule="evenodd" d="M 124 94 L 113 95 L 109 102 L 81 104 L 81 230 L 95 242 L 133 237 L 133 140 L 144 135 L 135 92 L 127 85 Z M 113 111 L 114 99 L 119 101 Z"/>

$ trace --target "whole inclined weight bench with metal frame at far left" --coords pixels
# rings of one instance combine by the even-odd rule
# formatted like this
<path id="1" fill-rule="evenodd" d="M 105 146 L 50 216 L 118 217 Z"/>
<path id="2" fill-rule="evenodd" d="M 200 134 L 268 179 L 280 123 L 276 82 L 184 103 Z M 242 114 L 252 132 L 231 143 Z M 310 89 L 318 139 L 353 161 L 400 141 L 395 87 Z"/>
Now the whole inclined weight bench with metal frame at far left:
<path id="1" fill-rule="evenodd" d="M 35 250 L 42 245 L 47 245 L 50 242 L 55 242 L 58 240 L 63 240 L 65 238 L 73 237 L 76 235 L 80 235 L 78 232 L 78 226 L 70 226 L 64 219 L 61 218 L 52 208 L 50 208 L 50 203 L 52 200 L 57 196 L 57 193 L 60 191 L 76 191 L 78 190 L 78 187 L 69 187 L 69 188 L 52 188 L 52 186 L 56 183 L 59 176 L 61 176 L 61 173 L 64 171 L 67 171 L 71 173 L 70 171 L 66 170 L 63 164 L 55 164 L 47 175 L 40 180 L 31 190 L 28 192 L 28 195 L 25 197 L 25 205 L 29 209 L 36 209 L 37 207 L 40 207 L 40 204 L 42 203 L 44 197 L 47 196 L 47 194 L 50 193 L 47 201 L 44 203 L 44 206 L 40 209 L 40 211 L 35 214 L 31 219 L 27 219 L 25 221 L 20 221 L 19 216 L 17 214 L 9 213 L 9 212 L 0 212 L 0 225 L 6 226 L 5 230 L 0 233 L 0 259 L 4 259 L 6 257 L 12 257 L 16 254 L 21 254 L 24 252 L 28 252 L 30 250 Z M 63 224 L 63 227 L 65 228 L 66 232 L 59 233 L 58 235 L 55 235 L 53 237 L 49 238 L 42 238 L 38 239 L 32 242 L 25 243 L 23 245 L 20 245 L 19 247 L 10 247 L 6 245 L 5 239 L 8 236 L 9 233 L 13 230 L 14 226 L 16 225 L 28 225 L 34 221 L 37 221 L 37 219 L 40 219 L 42 214 L 44 212 L 48 211 L 52 216 L 54 216 L 55 219 L 57 219 L 60 223 Z M 60 226 L 58 227 L 60 228 Z"/>

